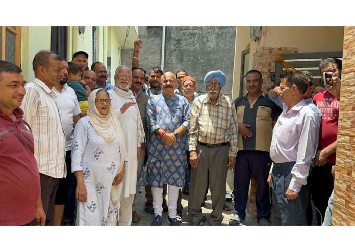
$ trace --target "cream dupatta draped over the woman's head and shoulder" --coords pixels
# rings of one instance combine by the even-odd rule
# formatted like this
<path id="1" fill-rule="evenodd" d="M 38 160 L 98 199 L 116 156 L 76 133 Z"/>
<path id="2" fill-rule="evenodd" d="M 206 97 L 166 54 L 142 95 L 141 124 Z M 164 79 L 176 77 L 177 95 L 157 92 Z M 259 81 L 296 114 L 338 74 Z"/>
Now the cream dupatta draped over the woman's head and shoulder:
<path id="1" fill-rule="evenodd" d="M 119 137 L 119 146 L 117 146 L 117 153 L 120 155 L 120 160 L 121 163 L 118 166 L 118 169 L 116 171 L 116 174 L 119 174 L 122 169 L 123 169 L 123 164 L 124 164 L 124 157 L 125 157 L 125 142 L 124 142 L 124 135 L 121 129 L 121 125 L 117 119 L 117 116 L 115 114 L 115 110 L 113 109 L 112 106 L 110 106 L 109 109 L 109 114 L 104 116 L 99 113 L 99 111 L 96 108 L 95 105 L 95 100 L 96 100 L 96 94 L 98 91 L 104 90 L 104 89 L 95 89 L 93 90 L 89 97 L 88 97 L 88 111 L 87 111 L 87 117 L 88 120 L 90 121 L 92 127 L 95 129 L 98 135 L 102 136 L 105 140 L 105 142 L 110 143 L 112 142 L 116 136 Z M 106 93 L 107 91 L 104 90 Z M 109 95 L 110 97 L 110 95 Z M 118 150 L 119 147 L 119 150 Z M 123 183 L 123 181 L 121 182 Z M 121 185 L 121 184 L 120 184 Z M 118 185 L 119 186 L 119 185 Z M 111 189 L 111 200 L 113 202 L 113 205 L 116 205 L 120 195 L 118 195 L 118 186 L 113 186 Z"/>

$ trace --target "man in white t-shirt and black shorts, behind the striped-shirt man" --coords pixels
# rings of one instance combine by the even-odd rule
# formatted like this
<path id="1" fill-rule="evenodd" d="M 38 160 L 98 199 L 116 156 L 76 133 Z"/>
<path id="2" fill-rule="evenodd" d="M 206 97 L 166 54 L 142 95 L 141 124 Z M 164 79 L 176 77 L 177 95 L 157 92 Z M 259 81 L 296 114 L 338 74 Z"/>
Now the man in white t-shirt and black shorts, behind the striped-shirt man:
<path id="1" fill-rule="evenodd" d="M 68 62 L 62 59 L 62 64 L 65 68 L 64 77 L 56 84 L 52 91 L 56 95 L 56 103 L 59 109 L 62 125 L 65 132 L 65 163 L 67 167 L 66 178 L 59 179 L 58 190 L 54 206 L 54 226 L 60 226 L 62 222 L 63 212 L 65 225 L 71 225 L 74 222 L 75 211 L 75 187 L 76 180 L 71 172 L 71 149 L 73 142 L 73 131 L 75 123 L 80 119 L 80 107 L 75 91 L 67 85 L 68 81 Z M 65 208 L 64 208 L 65 204 Z"/>

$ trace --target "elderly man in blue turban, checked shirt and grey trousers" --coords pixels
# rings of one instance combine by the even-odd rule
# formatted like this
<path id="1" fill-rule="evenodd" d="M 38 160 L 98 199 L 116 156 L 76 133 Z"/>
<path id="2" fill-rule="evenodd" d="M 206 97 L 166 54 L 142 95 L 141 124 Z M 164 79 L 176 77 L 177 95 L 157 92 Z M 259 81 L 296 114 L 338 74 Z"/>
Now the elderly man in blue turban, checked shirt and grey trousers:
<path id="1" fill-rule="evenodd" d="M 238 151 L 238 120 L 235 104 L 220 91 L 225 74 L 208 72 L 204 79 L 207 94 L 197 97 L 191 108 L 189 131 L 190 191 L 189 222 L 202 225 L 201 205 L 210 184 L 212 212 L 210 225 L 220 225 L 225 198 L 228 168 L 233 169 Z"/>

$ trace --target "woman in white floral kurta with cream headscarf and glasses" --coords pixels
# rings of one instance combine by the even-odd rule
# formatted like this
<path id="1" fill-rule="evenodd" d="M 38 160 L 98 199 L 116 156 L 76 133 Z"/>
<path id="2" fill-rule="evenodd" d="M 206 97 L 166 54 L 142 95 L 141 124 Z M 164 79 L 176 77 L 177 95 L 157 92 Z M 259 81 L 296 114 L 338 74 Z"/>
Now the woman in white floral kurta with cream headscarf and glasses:
<path id="1" fill-rule="evenodd" d="M 127 159 L 124 136 L 106 90 L 92 91 L 88 103 L 87 116 L 75 126 L 71 152 L 76 225 L 116 225 Z"/>

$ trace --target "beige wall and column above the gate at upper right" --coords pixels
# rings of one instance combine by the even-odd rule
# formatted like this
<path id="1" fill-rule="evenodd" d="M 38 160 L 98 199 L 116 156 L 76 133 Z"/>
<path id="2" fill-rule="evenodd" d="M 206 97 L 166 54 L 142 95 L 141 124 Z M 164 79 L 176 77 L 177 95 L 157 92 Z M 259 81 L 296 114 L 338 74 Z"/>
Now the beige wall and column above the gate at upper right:
<path id="1" fill-rule="evenodd" d="M 260 40 L 250 41 L 250 27 L 236 27 L 232 98 L 239 96 L 241 52 L 250 47 L 249 69 L 260 47 L 298 48 L 298 52 L 342 51 L 344 27 L 262 27 Z"/>

